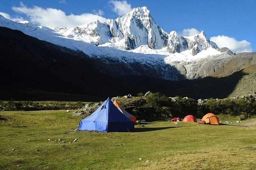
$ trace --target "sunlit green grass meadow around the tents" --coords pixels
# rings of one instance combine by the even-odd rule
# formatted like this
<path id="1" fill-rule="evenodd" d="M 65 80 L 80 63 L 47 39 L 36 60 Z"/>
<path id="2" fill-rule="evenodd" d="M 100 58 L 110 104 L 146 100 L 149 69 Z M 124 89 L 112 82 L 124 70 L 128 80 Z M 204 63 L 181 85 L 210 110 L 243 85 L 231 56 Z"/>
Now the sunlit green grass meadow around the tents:
<path id="1" fill-rule="evenodd" d="M 97 133 L 74 131 L 81 117 L 66 111 L 0 114 L 0 169 L 256 167 L 256 126 L 153 122 L 131 133 Z"/>

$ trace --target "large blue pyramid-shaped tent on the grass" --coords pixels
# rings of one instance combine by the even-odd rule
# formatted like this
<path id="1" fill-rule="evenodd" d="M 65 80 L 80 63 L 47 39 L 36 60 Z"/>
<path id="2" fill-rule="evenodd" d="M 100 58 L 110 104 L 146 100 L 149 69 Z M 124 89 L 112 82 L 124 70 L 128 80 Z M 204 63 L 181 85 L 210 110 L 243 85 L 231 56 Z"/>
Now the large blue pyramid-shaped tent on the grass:
<path id="1" fill-rule="evenodd" d="M 108 98 L 92 115 L 80 121 L 78 130 L 125 132 L 133 131 L 134 123 Z"/>

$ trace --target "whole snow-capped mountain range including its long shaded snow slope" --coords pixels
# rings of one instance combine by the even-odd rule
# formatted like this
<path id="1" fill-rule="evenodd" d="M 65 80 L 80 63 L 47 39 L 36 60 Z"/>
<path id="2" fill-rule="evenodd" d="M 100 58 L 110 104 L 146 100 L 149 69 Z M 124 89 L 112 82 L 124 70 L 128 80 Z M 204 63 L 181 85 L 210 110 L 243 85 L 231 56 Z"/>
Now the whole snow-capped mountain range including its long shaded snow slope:
<path id="1" fill-rule="evenodd" d="M 207 73 L 202 75 L 198 69 L 193 69 L 198 67 L 197 61 L 202 63 L 211 58 L 234 55 L 227 48 L 219 49 L 204 31 L 190 37 L 182 37 L 176 31 L 166 33 L 156 24 L 147 7 L 134 8 L 106 23 L 95 21 L 72 28 L 54 29 L 27 21 L 14 22 L 0 15 L 0 27 L 20 30 L 52 44 L 81 50 L 102 61 L 127 64 L 132 74 L 143 72 L 150 76 L 147 70 L 154 69 L 158 78 L 168 80 L 179 80 L 170 67 L 175 67 L 188 79 L 206 77 Z M 134 63 L 143 65 L 143 69 L 134 68 Z"/>

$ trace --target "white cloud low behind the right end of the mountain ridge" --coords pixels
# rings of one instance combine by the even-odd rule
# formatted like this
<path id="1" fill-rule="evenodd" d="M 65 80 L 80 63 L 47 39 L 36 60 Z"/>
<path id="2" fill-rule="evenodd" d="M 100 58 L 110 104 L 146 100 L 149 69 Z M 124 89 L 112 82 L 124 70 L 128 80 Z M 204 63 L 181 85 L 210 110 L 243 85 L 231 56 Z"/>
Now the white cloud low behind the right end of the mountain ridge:
<path id="1" fill-rule="evenodd" d="M 219 48 L 227 47 L 235 53 L 252 52 L 251 43 L 246 40 L 238 41 L 227 36 L 211 37 L 210 40 L 216 43 Z"/>

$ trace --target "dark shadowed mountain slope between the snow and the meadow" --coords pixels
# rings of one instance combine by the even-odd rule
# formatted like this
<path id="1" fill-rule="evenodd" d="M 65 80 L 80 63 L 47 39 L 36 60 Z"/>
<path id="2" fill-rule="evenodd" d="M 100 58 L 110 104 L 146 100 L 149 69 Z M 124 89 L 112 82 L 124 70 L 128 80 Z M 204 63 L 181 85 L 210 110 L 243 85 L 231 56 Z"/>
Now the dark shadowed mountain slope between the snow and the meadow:
<path id="1" fill-rule="evenodd" d="M 243 80 L 246 74 L 254 72 L 251 68 L 253 68 L 253 63 L 256 64 L 252 60 L 256 58 L 256 53 L 245 53 L 244 59 L 240 60 L 241 63 L 245 61 L 241 64 L 243 67 L 234 67 L 231 72 L 225 70 L 228 67 L 223 67 L 223 73 L 231 74 L 227 77 L 182 81 L 166 81 L 133 74 L 111 77 L 109 74 L 103 74 L 101 69 L 117 67 L 118 63 L 117 65 L 106 64 L 82 52 L 53 45 L 8 28 L 0 27 L 0 39 L 2 52 L 0 56 L 0 99 L 2 100 L 33 100 L 31 92 L 26 94 L 26 90 L 31 91 L 31 89 L 102 97 L 137 95 L 139 92 L 145 93 L 151 90 L 168 96 L 224 98 L 232 94 L 236 84 L 241 83 L 239 80 Z M 234 60 L 238 58 L 234 56 Z M 233 62 L 227 62 L 227 65 Z M 124 67 L 120 66 L 118 69 L 123 70 Z M 239 71 L 239 69 L 244 71 Z M 178 71 L 177 75 L 179 75 Z M 182 77 L 181 74 L 179 76 Z M 252 83 L 243 83 L 244 88 L 249 86 L 252 86 Z M 252 92 L 250 87 L 243 91 L 244 94 Z M 46 95 L 45 92 L 44 99 L 47 99 Z M 52 99 L 52 93 L 49 95 L 51 96 L 48 98 Z M 34 98 L 38 99 L 36 96 Z M 70 100 L 74 99 L 70 98 Z M 79 100 L 79 96 L 76 100 Z"/>

